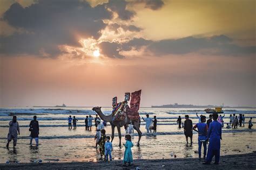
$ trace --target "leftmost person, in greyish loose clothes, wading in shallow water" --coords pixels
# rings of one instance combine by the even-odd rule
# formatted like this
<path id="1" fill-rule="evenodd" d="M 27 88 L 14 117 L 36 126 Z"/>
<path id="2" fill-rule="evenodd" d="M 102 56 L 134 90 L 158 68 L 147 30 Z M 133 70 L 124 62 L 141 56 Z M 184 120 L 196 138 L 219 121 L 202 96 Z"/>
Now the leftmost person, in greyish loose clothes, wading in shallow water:
<path id="1" fill-rule="evenodd" d="M 12 140 L 14 140 L 14 149 L 17 144 L 17 138 L 19 134 L 19 124 L 17 122 L 17 117 L 13 116 L 12 121 L 9 122 L 9 132 L 7 136 L 7 144 L 6 147 L 9 148 L 9 143 Z"/>

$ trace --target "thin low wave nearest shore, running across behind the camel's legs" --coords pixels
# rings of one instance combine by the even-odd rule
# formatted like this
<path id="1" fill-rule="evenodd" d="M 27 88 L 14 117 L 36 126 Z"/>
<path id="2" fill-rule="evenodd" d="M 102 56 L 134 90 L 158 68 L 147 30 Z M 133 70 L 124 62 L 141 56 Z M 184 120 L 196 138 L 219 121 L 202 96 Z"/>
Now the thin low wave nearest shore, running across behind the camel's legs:
<path id="1" fill-rule="evenodd" d="M 135 132 L 135 130 L 134 130 Z M 241 132 L 256 132 L 256 129 L 242 129 L 242 130 L 224 130 L 223 133 L 241 133 Z M 197 134 L 197 132 L 193 132 Z M 143 133 L 142 136 L 161 136 L 161 135 L 176 135 L 176 134 L 184 134 L 183 131 L 179 132 L 157 132 L 157 133 Z M 106 134 L 106 136 L 111 136 L 111 134 Z M 115 137 L 118 134 L 115 133 Z M 122 133 L 122 136 L 125 136 L 125 133 Z M 133 133 L 131 136 L 138 136 L 138 133 Z M 95 135 L 73 135 L 73 136 L 40 136 L 40 139 L 70 139 L 70 138 L 94 138 Z M 18 137 L 18 139 L 29 139 L 30 137 Z M 6 139 L 6 137 L 0 137 L 0 139 Z"/>

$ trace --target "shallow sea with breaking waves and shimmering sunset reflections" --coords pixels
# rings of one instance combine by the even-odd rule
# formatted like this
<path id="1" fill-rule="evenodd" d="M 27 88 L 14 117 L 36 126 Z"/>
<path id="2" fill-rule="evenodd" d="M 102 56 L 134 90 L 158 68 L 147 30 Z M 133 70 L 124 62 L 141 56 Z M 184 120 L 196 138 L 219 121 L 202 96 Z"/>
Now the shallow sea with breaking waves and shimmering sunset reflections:
<path id="1" fill-rule="evenodd" d="M 248 121 L 256 121 L 256 109 L 223 109 L 224 128 L 223 140 L 221 141 L 221 155 L 242 154 L 256 151 L 256 130 L 253 126 L 248 129 Z M 112 108 L 102 108 L 105 115 L 112 112 Z M 193 134 L 193 145 L 187 146 L 183 129 L 178 128 L 177 118 L 181 116 L 182 122 L 185 115 L 189 115 L 193 124 L 198 123 L 198 115 L 208 114 L 201 108 L 140 108 L 140 117 L 149 114 L 151 118 L 157 117 L 157 133 L 147 134 L 145 122 L 142 120 L 140 130 L 143 132 L 140 146 L 136 146 L 138 134 L 134 130 L 132 134 L 133 159 L 176 159 L 198 158 L 198 134 Z M 221 115 L 224 115 L 221 114 Z M 245 126 L 238 129 L 226 129 L 230 114 L 244 114 Z M 7 149 L 6 137 L 12 116 L 17 116 L 21 134 L 18 136 L 17 147 Z M 39 122 L 39 146 L 30 147 L 29 123 L 33 116 L 37 116 Z M 68 129 L 68 117 L 76 116 L 78 119 L 77 129 Z M 6 162 L 18 164 L 21 162 L 72 162 L 72 161 L 100 161 L 99 149 L 95 148 L 95 126 L 92 131 L 85 130 L 85 117 L 95 117 L 96 112 L 92 108 L 52 108 L 52 107 L 25 107 L 25 108 L 0 108 L 0 164 Z M 111 136 L 111 126 L 105 127 L 106 135 Z M 125 130 L 122 128 L 122 144 Z M 113 160 L 122 160 L 124 146 L 118 146 L 119 139 L 117 129 L 113 140 Z M 174 158 L 176 155 L 176 158 Z"/>

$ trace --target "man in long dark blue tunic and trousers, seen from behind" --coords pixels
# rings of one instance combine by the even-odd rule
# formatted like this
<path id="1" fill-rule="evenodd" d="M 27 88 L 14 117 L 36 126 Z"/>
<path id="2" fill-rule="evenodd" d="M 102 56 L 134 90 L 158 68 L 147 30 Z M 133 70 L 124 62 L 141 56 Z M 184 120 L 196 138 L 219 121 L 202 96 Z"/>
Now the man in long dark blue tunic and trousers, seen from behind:
<path id="1" fill-rule="evenodd" d="M 212 158 L 215 157 L 214 164 L 219 164 L 220 159 L 220 140 L 221 138 L 221 124 L 217 121 L 218 114 L 213 114 L 213 122 L 208 129 L 207 139 L 209 140 L 208 152 L 206 161 L 203 164 L 211 164 Z"/>

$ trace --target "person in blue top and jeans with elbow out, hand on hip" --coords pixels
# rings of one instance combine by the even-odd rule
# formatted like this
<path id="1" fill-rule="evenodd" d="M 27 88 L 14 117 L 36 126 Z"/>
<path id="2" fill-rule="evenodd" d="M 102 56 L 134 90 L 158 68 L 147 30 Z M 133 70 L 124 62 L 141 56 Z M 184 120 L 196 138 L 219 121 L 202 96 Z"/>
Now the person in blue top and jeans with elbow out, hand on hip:
<path id="1" fill-rule="evenodd" d="M 201 147 L 202 144 L 204 145 L 204 159 L 206 156 L 206 150 L 207 150 L 207 131 L 208 131 L 208 126 L 205 123 L 206 122 L 206 117 L 205 116 L 201 116 L 201 123 L 197 123 L 196 125 L 194 125 L 193 129 L 194 131 L 198 132 L 198 155 L 199 155 L 199 159 L 201 159 Z M 198 130 L 196 130 L 196 128 Z"/>

